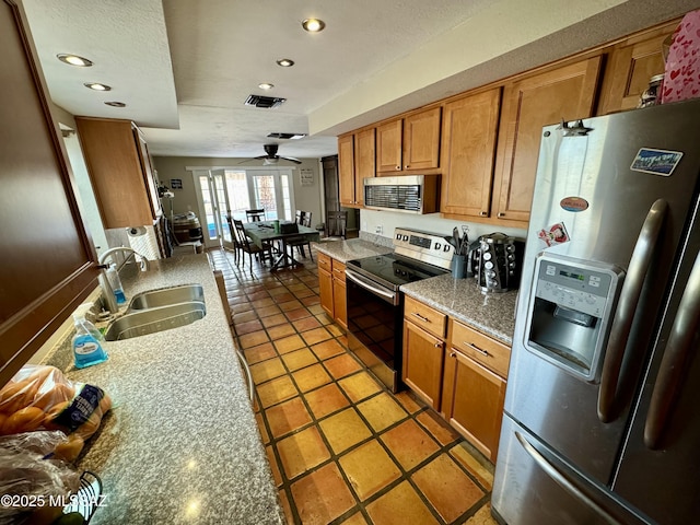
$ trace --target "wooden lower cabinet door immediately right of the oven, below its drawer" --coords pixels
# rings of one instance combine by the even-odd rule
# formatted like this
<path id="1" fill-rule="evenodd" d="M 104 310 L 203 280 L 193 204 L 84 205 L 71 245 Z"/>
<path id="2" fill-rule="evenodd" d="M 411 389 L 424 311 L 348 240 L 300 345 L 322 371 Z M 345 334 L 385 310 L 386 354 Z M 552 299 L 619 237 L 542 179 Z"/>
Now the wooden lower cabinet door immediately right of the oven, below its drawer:
<path id="1" fill-rule="evenodd" d="M 440 410 L 444 347 L 442 339 L 404 320 L 401 377 L 410 389 L 435 410 Z"/>

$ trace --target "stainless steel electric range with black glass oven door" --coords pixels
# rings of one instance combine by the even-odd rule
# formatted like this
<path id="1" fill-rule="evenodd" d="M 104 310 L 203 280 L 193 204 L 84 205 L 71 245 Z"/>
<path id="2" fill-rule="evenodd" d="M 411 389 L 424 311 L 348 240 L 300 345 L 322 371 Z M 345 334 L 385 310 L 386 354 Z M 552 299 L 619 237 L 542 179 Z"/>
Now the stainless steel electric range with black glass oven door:
<path id="1" fill-rule="evenodd" d="M 349 260 L 346 266 L 348 345 L 392 392 L 401 383 L 401 284 L 450 272 L 450 236 L 397 228 L 394 253 Z"/>

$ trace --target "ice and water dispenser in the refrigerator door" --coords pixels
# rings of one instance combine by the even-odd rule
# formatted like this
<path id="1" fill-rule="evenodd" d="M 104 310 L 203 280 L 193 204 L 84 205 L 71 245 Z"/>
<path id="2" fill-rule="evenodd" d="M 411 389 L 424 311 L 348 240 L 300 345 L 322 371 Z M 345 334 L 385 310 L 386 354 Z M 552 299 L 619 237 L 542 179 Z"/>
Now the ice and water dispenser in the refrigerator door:
<path id="1" fill-rule="evenodd" d="M 612 265 L 540 254 L 526 347 L 585 381 L 596 381 L 623 276 Z"/>

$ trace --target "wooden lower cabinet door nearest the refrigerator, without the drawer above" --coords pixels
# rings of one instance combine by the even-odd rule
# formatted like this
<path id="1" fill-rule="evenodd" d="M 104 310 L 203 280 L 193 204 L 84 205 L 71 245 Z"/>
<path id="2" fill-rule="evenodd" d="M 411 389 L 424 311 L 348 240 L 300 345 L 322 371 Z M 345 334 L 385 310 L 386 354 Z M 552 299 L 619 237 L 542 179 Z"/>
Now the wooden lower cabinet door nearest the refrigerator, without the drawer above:
<path id="1" fill-rule="evenodd" d="M 495 463 L 505 381 L 455 348 L 445 349 L 442 415 Z"/>

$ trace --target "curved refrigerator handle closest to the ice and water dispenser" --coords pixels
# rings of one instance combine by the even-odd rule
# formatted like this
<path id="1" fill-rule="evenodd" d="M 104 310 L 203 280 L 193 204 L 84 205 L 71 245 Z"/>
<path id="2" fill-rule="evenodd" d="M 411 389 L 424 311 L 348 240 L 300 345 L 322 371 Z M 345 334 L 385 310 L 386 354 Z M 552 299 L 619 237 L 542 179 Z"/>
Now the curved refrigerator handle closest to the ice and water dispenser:
<path id="1" fill-rule="evenodd" d="M 632 320 L 646 280 L 654 248 L 662 232 L 662 225 L 668 211 L 668 203 L 664 199 L 656 200 L 646 213 L 642 230 L 637 237 L 629 271 L 615 312 L 610 328 L 607 351 L 603 361 L 600 374 L 600 389 L 598 392 L 598 419 L 604 423 L 612 421 L 617 415 L 614 407 L 617 399 L 617 388 L 625 358 L 625 349 L 632 329 Z"/>

